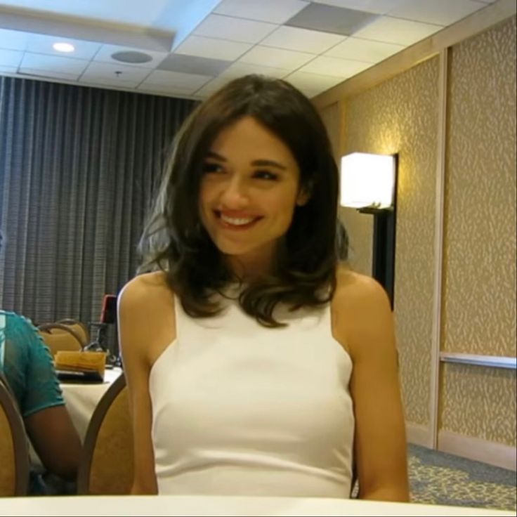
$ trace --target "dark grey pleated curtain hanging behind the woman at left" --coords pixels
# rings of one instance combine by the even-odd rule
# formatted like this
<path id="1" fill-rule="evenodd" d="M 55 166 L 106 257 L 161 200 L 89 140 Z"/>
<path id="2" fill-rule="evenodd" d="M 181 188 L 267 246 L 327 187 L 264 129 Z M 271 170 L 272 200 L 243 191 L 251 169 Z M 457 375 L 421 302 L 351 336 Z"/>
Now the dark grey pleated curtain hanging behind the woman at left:
<path id="1" fill-rule="evenodd" d="M 192 100 L 0 77 L 0 307 L 98 321 Z"/>

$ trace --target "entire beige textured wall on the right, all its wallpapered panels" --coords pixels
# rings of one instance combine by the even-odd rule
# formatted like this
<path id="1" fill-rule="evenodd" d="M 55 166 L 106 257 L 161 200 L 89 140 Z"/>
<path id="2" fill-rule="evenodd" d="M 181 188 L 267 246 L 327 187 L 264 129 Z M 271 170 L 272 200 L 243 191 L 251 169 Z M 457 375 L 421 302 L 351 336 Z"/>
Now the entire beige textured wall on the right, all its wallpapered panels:
<path id="1" fill-rule="evenodd" d="M 516 354 L 515 41 L 513 16 L 449 50 L 442 351 Z M 395 320 L 407 421 L 422 428 L 432 420 L 439 64 L 419 63 L 324 114 L 341 152 L 399 153 Z M 369 272 L 370 216 L 347 210 L 352 266 Z M 438 430 L 515 447 L 515 370 L 442 365 L 438 417 Z"/>

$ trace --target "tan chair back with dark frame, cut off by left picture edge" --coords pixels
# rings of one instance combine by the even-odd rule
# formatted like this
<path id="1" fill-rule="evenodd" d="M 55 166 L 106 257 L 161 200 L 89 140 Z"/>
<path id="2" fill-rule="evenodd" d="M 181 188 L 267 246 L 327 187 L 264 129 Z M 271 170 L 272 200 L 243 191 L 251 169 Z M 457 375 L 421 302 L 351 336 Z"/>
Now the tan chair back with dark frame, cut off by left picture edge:
<path id="1" fill-rule="evenodd" d="M 27 495 L 29 447 L 22 417 L 0 376 L 0 497 Z"/>

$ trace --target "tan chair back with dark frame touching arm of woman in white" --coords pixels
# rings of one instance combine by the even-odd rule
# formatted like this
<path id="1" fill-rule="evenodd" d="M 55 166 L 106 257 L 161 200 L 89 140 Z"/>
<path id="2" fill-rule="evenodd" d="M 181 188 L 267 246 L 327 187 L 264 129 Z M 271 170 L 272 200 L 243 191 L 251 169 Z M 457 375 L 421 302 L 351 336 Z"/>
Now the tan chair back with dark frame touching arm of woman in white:
<path id="1" fill-rule="evenodd" d="M 133 484 L 133 431 L 124 374 L 100 399 L 84 439 L 79 495 L 124 495 Z"/>

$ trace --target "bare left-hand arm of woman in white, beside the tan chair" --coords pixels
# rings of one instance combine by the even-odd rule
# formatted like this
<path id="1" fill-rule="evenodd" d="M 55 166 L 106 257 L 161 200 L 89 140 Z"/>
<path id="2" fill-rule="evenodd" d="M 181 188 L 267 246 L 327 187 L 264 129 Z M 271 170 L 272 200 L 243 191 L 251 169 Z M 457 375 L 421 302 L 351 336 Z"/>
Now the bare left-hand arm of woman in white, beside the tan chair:
<path id="1" fill-rule="evenodd" d="M 118 303 L 120 350 L 133 422 L 134 494 L 157 493 L 149 375 L 156 358 L 159 329 L 163 327 L 163 308 L 157 305 L 157 293 L 147 280 L 145 275 L 131 280 L 119 295 Z"/>

